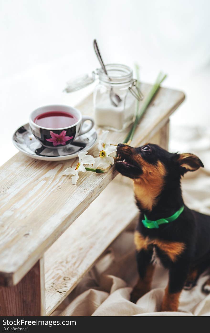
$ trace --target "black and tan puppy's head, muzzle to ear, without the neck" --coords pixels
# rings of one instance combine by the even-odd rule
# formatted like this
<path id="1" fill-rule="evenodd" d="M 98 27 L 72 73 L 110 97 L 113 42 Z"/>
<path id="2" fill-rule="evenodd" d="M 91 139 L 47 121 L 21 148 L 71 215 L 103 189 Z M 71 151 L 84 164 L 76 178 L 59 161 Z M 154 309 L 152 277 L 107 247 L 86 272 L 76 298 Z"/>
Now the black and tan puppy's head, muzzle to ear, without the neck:
<path id="1" fill-rule="evenodd" d="M 203 163 L 193 154 L 173 154 L 158 145 L 147 144 L 138 148 L 119 144 L 117 146 L 119 161 L 116 169 L 132 179 L 153 181 L 166 175 L 180 177 L 187 171 L 195 171 Z"/>

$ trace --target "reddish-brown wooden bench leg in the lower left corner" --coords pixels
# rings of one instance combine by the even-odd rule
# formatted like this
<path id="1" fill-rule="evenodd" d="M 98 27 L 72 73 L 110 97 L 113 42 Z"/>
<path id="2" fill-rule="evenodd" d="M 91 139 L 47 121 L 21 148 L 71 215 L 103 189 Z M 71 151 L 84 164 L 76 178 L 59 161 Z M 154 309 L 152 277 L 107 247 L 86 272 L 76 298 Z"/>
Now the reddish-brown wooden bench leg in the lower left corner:
<path id="1" fill-rule="evenodd" d="M 45 316 L 43 258 L 17 285 L 0 287 L 0 316 Z"/>

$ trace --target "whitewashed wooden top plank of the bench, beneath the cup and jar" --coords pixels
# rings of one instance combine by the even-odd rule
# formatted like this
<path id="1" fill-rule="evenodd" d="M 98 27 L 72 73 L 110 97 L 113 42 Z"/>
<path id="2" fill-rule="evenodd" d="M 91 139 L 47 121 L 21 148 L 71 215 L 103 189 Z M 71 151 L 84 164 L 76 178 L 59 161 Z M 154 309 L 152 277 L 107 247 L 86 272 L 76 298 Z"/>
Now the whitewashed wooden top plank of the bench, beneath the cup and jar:
<path id="1" fill-rule="evenodd" d="M 142 84 L 145 96 L 150 88 Z M 183 100 L 182 92 L 161 88 L 132 145 L 154 136 Z M 91 114 L 92 95 L 77 108 Z M 111 142 L 122 142 L 128 130 L 110 132 Z M 75 186 L 62 176 L 63 170 L 75 164 L 76 160 L 37 161 L 18 153 L 0 168 L 0 282 L 4 285 L 17 284 L 117 174 L 114 167 L 105 174 L 85 172 Z"/>

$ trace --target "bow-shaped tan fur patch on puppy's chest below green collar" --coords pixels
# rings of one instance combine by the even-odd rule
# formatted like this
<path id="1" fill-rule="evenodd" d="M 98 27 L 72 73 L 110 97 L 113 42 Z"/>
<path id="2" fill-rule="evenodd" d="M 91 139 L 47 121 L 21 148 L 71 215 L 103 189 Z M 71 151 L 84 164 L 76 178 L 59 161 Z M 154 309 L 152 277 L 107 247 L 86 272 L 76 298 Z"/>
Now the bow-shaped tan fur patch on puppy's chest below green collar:
<path id="1" fill-rule="evenodd" d="M 134 233 L 134 243 L 136 245 L 137 251 L 142 249 L 147 250 L 148 246 L 156 245 L 163 252 L 165 252 L 173 262 L 176 261 L 177 257 L 183 252 L 185 248 L 184 243 L 160 240 L 158 238 L 150 239 L 148 236 L 142 236 L 138 231 L 135 231 Z"/>

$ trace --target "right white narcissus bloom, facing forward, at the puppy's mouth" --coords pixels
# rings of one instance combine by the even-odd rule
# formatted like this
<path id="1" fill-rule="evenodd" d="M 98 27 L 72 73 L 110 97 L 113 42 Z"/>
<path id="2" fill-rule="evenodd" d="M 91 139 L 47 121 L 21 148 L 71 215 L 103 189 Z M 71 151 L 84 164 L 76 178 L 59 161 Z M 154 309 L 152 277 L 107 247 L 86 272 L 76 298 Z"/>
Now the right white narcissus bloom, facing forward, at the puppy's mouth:
<path id="1" fill-rule="evenodd" d="M 97 167 L 102 167 L 106 169 L 111 164 L 114 164 L 113 157 L 109 156 L 110 154 L 116 152 L 116 146 L 104 143 L 104 140 L 99 140 L 99 157 L 95 158 L 95 162 L 93 167 L 97 169 Z"/>

